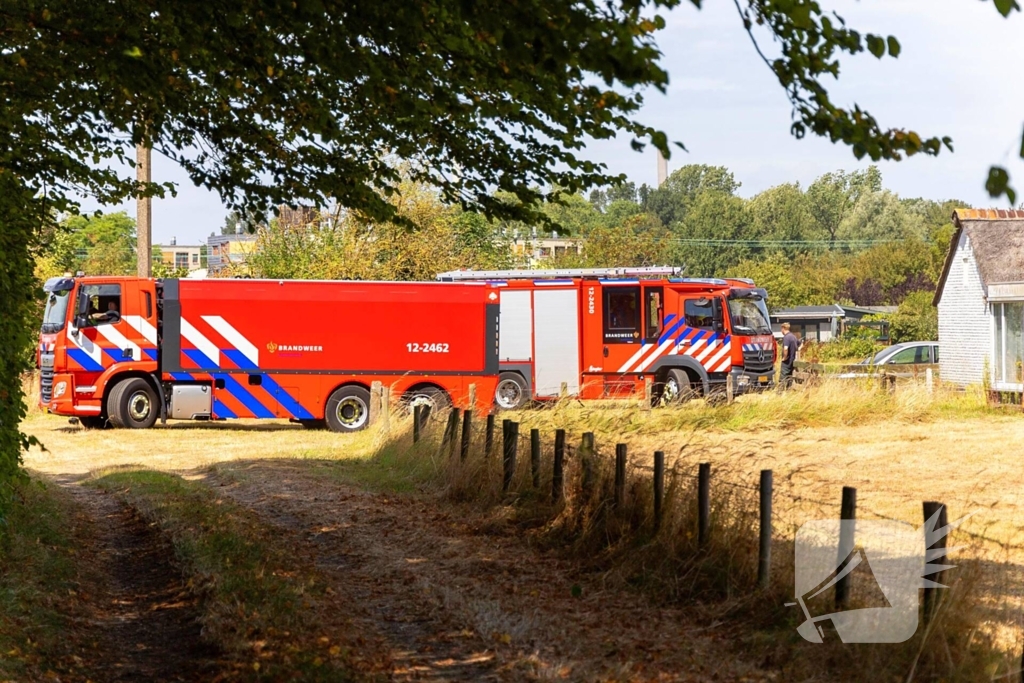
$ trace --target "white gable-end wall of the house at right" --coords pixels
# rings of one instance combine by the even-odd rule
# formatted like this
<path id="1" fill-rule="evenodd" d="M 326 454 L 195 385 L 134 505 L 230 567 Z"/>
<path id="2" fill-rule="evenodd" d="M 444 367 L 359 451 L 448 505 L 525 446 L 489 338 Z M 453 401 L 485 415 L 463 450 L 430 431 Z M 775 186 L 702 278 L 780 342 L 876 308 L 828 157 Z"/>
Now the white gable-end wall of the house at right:
<path id="1" fill-rule="evenodd" d="M 966 232 L 961 232 L 938 308 L 940 377 L 961 386 L 981 384 L 985 359 L 991 362 L 992 322 Z"/>

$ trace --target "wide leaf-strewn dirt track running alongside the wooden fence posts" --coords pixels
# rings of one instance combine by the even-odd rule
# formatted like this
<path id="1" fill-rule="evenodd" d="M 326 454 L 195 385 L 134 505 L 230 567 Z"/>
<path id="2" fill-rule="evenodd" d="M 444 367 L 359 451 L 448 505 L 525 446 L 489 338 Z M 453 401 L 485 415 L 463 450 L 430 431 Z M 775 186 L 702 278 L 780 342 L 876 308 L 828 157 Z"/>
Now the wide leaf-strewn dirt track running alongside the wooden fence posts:
<path id="1" fill-rule="evenodd" d="M 394 680 L 771 678 L 681 610 L 605 590 L 599 575 L 429 502 L 280 461 L 225 466 L 210 483 L 307 546 L 339 604 L 387 644 Z"/>

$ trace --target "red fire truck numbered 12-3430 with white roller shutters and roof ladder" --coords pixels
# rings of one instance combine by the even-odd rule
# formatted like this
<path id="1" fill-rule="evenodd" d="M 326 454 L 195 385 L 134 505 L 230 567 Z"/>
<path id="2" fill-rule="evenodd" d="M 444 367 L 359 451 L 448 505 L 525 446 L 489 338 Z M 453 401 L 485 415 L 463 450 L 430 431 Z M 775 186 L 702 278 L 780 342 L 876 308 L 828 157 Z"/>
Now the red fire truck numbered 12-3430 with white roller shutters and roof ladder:
<path id="1" fill-rule="evenodd" d="M 680 269 L 456 270 L 444 282 L 502 289 L 503 409 L 560 395 L 607 398 L 736 394 L 774 385 L 767 294 L 749 280 L 692 279 Z"/>

